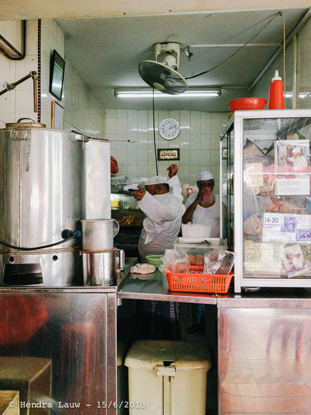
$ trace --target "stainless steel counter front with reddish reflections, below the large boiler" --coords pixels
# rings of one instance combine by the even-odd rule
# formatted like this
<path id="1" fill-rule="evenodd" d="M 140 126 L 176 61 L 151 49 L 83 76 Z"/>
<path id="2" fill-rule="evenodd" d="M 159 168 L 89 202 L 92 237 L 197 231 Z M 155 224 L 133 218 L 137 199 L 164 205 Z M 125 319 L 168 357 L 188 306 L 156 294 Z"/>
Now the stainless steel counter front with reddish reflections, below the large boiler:
<path id="1" fill-rule="evenodd" d="M 21 401 L 50 403 L 42 414 L 116 415 L 104 406 L 117 398 L 116 293 L 116 286 L 0 288 L 0 356 L 8 367 L 1 389 L 14 382 Z M 68 409 L 69 402 L 78 406 Z"/>

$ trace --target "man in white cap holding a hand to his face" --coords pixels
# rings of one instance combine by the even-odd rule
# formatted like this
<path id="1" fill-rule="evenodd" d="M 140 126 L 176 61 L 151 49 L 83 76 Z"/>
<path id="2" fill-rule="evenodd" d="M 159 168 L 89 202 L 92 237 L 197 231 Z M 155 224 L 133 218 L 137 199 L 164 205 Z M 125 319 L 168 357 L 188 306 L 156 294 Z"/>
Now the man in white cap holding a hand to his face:
<path id="1" fill-rule="evenodd" d="M 214 176 L 211 172 L 200 172 L 198 175 L 198 193 L 191 194 L 185 203 L 186 212 L 182 223 L 202 223 L 211 227 L 211 238 L 220 237 L 220 201 L 214 194 Z"/>

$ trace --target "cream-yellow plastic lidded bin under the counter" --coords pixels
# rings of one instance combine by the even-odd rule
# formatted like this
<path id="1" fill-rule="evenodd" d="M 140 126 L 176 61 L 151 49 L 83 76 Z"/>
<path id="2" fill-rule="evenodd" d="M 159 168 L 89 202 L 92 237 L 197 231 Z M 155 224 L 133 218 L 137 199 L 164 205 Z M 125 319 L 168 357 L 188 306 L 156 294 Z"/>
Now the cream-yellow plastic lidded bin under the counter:
<path id="1" fill-rule="evenodd" d="M 126 355 L 130 415 L 205 415 L 209 352 L 202 344 L 139 340 Z"/>

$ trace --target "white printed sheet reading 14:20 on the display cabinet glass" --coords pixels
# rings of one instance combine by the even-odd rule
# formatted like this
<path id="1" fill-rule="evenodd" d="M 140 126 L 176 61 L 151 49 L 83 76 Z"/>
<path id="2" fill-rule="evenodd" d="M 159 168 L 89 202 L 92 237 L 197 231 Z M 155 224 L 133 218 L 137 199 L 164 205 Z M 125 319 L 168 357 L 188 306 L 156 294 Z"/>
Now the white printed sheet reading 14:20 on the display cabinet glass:
<path id="1" fill-rule="evenodd" d="M 265 242 L 311 242 L 311 215 L 263 214 L 263 241 Z"/>

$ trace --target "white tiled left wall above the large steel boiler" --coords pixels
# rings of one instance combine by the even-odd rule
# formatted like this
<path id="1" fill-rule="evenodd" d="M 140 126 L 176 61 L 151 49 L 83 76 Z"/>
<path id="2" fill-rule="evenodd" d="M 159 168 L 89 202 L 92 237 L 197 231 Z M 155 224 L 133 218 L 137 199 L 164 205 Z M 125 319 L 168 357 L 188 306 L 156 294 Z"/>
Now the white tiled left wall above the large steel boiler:
<path id="1" fill-rule="evenodd" d="M 0 33 L 21 50 L 21 22 L 0 21 Z M 38 70 L 37 60 L 38 21 L 27 21 L 26 57 L 12 61 L 0 55 L 0 83 L 14 82 L 30 71 Z M 64 33 L 54 19 L 41 21 L 41 122 L 50 128 L 51 102 L 55 99 L 48 91 L 50 80 L 50 56 L 53 49 L 64 57 Z M 64 107 L 64 129 L 79 129 L 91 136 L 104 136 L 104 110 L 84 81 L 67 61 L 64 78 L 64 98 L 57 100 Z M 32 80 L 27 80 L 0 97 L 0 128 L 6 122 L 27 117 L 37 121 L 33 112 Z"/>

